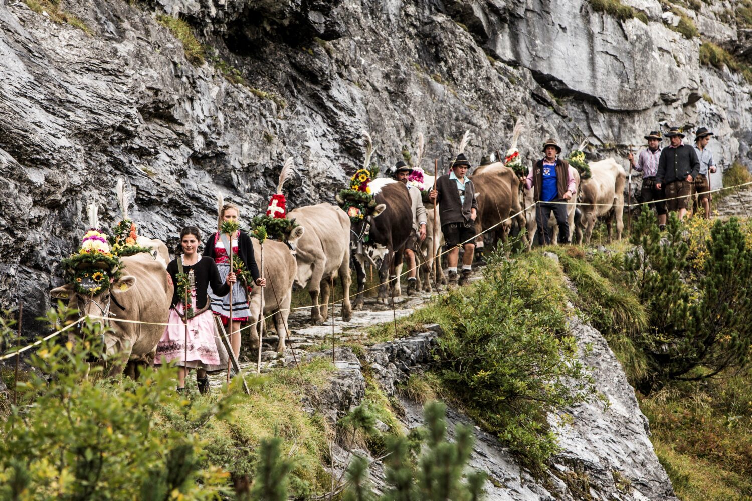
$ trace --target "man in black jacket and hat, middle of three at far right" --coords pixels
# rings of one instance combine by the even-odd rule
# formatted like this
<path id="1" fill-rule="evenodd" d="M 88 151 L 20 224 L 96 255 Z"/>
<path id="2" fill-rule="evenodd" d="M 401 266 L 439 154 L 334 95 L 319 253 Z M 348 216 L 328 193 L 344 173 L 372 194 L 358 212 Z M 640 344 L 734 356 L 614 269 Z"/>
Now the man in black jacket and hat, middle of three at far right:
<path id="1" fill-rule="evenodd" d="M 671 212 L 678 211 L 679 219 L 687 214 L 687 198 L 692 194 L 692 182 L 700 172 L 700 161 L 692 146 L 684 144 L 684 134 L 672 127 L 666 134 L 671 145 L 663 148 L 658 159 L 656 188 L 666 186 L 667 205 Z"/>

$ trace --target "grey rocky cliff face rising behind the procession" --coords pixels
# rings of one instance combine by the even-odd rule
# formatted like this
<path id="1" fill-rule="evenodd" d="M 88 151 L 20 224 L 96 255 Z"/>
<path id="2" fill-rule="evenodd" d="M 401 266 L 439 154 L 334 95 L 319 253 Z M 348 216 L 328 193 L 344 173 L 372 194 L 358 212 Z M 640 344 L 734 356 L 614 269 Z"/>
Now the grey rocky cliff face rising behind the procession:
<path id="1" fill-rule="evenodd" d="M 701 38 L 669 29 L 669 6 L 625 3 L 647 23 L 583 0 L 62 0 L 89 34 L 0 0 L 0 306 L 48 306 L 84 205 L 114 222 L 121 176 L 144 233 L 174 244 L 186 223 L 211 231 L 216 190 L 253 216 L 288 155 L 291 204 L 332 201 L 362 161 L 361 129 L 384 165 L 422 131 L 445 168 L 465 129 L 477 163 L 517 117 L 526 158 L 549 136 L 623 156 L 664 122 L 716 131 L 720 164 L 752 158 L 746 80 L 700 65 Z M 744 57 L 736 2 L 697 3 L 675 11 Z M 211 57 L 189 62 L 165 13 Z"/>

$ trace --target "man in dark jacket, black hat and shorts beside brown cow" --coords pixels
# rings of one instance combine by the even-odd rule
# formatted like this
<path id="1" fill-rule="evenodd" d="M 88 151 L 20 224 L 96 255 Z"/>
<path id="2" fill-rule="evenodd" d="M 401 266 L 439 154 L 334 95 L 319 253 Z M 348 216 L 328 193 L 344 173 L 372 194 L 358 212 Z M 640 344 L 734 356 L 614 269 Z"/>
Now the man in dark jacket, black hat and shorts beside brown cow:
<path id="1" fill-rule="evenodd" d="M 472 258 L 475 252 L 475 218 L 478 217 L 478 201 L 475 200 L 475 186 L 466 176 L 470 162 L 464 154 L 459 153 L 451 164 L 450 174 L 444 174 L 436 180 L 436 189 L 432 189 L 429 198 L 438 204 L 441 233 L 447 242 L 449 264 L 449 285 L 457 285 L 457 261 L 459 261 L 459 244 L 463 244 L 462 276 L 459 285 L 465 285 L 472 273 Z"/>

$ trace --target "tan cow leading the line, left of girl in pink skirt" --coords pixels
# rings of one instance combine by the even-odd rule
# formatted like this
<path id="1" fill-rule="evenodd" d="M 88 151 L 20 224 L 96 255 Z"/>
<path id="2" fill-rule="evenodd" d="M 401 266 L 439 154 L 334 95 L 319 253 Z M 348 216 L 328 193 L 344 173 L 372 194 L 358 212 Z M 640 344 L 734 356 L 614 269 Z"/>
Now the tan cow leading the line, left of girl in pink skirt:
<path id="1" fill-rule="evenodd" d="M 109 314 L 112 318 L 145 322 L 99 321 L 112 328 L 104 336 L 105 354 L 117 358 L 110 376 L 120 374 L 129 361 L 153 363 L 156 345 L 165 331 L 165 326 L 159 324 L 167 322 L 172 300 L 172 284 L 159 259 L 155 261 L 145 252 L 122 259 L 123 276 L 94 297 L 77 294 L 71 284 L 50 291 L 56 299 L 67 299 L 68 306 L 79 309 L 81 316 Z M 71 341 L 75 336 L 71 335 Z"/>

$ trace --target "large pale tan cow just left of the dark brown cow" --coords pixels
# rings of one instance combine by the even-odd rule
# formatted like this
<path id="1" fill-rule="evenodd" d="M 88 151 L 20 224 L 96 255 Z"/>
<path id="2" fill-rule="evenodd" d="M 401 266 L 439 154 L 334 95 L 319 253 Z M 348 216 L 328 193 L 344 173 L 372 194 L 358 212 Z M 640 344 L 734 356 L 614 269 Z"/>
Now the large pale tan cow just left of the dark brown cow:
<path id="1" fill-rule="evenodd" d="M 305 234 L 296 243 L 295 260 L 298 272 L 295 283 L 300 288 L 308 286 L 311 295 L 311 322 L 326 321 L 327 304 L 332 293 L 330 283 L 339 276 L 344 291 L 342 320 L 350 321 L 350 218 L 332 204 L 299 207 L 287 213 L 305 227 Z M 319 300 L 321 296 L 321 300 Z"/>

